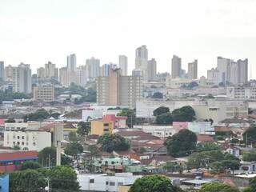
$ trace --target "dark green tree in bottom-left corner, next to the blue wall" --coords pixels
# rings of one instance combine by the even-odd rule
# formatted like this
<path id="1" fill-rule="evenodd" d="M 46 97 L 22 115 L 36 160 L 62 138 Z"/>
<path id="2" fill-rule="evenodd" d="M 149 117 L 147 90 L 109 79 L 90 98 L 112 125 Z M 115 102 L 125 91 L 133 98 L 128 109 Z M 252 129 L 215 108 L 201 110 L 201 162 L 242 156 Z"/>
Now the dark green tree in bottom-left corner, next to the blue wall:
<path id="1" fill-rule="evenodd" d="M 37 170 L 22 170 L 10 173 L 11 192 L 39 192 L 45 187 L 46 179 Z"/>

